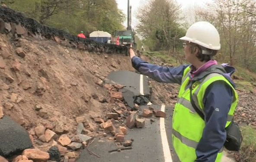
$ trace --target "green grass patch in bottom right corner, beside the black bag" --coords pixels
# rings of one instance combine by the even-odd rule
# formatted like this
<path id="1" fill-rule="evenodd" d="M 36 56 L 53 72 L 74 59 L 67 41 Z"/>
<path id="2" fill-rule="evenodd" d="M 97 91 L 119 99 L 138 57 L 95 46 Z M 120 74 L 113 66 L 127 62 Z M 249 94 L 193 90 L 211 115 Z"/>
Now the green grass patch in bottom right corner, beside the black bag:
<path id="1" fill-rule="evenodd" d="M 243 142 L 239 162 L 256 162 L 256 130 L 251 126 L 241 127 Z"/>

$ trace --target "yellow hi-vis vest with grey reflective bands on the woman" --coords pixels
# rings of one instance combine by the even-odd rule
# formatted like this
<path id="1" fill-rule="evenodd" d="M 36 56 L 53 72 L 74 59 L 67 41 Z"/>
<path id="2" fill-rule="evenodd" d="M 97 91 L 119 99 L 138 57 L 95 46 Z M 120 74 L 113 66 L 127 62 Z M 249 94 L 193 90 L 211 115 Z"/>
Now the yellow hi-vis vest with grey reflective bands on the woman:
<path id="1" fill-rule="evenodd" d="M 216 65 L 218 66 L 218 65 Z M 212 70 L 206 74 L 202 79 L 195 81 L 192 85 L 192 96 L 195 105 L 204 113 L 203 97 L 207 87 L 217 81 L 223 80 L 233 89 L 233 102 L 228 112 L 228 119 L 226 127 L 230 124 L 234 111 L 237 106 L 238 95 L 230 82 L 221 74 L 214 73 L 214 66 Z M 215 70 L 218 72 L 218 70 Z M 179 100 L 175 105 L 173 112 L 173 130 L 172 140 L 173 147 L 179 157 L 180 162 L 194 162 L 196 157 L 195 149 L 198 142 L 202 138 L 202 133 L 205 128 L 205 121 L 196 113 L 195 109 L 190 103 L 189 90 L 189 72 L 190 67 L 184 70 L 182 83 L 179 90 Z M 204 113 L 205 114 L 205 113 Z M 223 149 L 218 153 L 215 162 L 221 162 Z"/>

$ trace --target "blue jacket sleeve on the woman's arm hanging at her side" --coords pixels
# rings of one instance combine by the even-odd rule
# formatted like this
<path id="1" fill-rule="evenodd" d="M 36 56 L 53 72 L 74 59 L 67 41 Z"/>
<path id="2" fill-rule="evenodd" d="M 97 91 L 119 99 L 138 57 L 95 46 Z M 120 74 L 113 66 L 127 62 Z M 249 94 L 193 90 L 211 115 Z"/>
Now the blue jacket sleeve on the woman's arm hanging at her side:
<path id="1" fill-rule="evenodd" d="M 224 81 L 211 83 L 206 89 L 205 129 L 196 148 L 195 162 L 215 162 L 227 137 L 225 125 L 232 100 L 232 89 Z"/>

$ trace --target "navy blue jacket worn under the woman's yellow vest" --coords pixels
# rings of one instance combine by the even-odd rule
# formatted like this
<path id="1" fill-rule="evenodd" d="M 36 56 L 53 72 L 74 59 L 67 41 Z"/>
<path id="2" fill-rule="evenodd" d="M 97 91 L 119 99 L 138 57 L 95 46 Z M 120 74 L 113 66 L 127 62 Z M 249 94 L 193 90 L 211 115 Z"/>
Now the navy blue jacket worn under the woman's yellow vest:
<path id="1" fill-rule="evenodd" d="M 162 83 L 181 84 L 183 72 L 190 65 L 181 65 L 179 67 L 161 67 L 149 64 L 139 57 L 131 59 L 132 66 L 140 73 Z M 226 67 L 223 76 L 234 85 L 231 75 L 235 69 Z M 197 159 L 195 162 L 215 162 L 218 152 L 224 146 L 226 140 L 225 125 L 227 123 L 227 114 L 233 100 L 233 92 L 230 86 L 223 81 L 212 83 L 206 90 L 203 102 L 205 104 L 205 129 L 202 139 L 196 148 Z M 219 108 L 219 112 L 214 111 Z M 186 120 L 186 119 L 184 119 Z"/>

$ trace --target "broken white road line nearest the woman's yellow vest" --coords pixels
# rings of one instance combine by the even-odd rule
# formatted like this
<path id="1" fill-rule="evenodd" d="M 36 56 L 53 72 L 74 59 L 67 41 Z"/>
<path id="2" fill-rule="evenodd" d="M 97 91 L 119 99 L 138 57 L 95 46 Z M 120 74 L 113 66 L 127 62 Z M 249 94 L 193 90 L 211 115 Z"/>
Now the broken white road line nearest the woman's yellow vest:
<path id="1" fill-rule="evenodd" d="M 161 111 L 163 112 L 165 111 L 165 105 L 161 106 Z M 165 131 L 164 119 L 165 118 L 160 118 L 160 134 L 161 134 L 162 145 L 163 145 L 163 155 L 164 155 L 165 162 L 173 162 L 171 152 L 170 152 L 170 147 L 167 140 L 166 131 Z"/>

